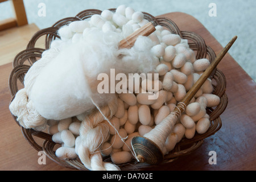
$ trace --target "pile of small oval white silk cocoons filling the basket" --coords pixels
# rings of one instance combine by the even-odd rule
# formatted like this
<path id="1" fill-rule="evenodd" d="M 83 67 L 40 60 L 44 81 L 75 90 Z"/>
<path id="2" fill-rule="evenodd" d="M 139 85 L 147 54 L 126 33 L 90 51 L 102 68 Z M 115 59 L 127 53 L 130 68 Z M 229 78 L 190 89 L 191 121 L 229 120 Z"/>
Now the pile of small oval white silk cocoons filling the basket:
<path id="1" fill-rule="evenodd" d="M 103 32 L 122 32 L 126 37 L 146 23 L 148 20 L 144 19 L 143 13 L 121 5 L 115 12 L 104 10 L 101 15 L 93 15 L 88 20 L 72 22 L 60 28 L 61 40 L 53 41 L 51 46 L 59 45 L 60 41 L 77 42 L 90 28 Z M 109 126 L 109 139 L 101 144 L 100 151 L 102 156 L 109 157 L 114 164 L 129 163 L 135 159 L 131 139 L 134 136 L 143 136 L 166 118 L 210 65 L 208 59 L 196 60 L 195 53 L 189 48 L 188 40 L 172 34 L 163 26 L 158 25 L 155 28 L 156 31 L 150 36 L 135 42 L 134 47 L 143 49 L 151 46 L 151 53 L 154 60 L 157 60 L 157 64 L 154 64 L 154 73 L 159 74 L 159 80 L 140 79 L 137 89 L 134 86 L 130 88 L 127 84 L 127 93 L 117 94 L 118 109 L 110 118 L 114 128 L 109 122 L 104 122 Z M 134 75 L 134 80 L 138 75 Z M 158 97 L 148 99 L 152 92 L 158 93 Z M 212 80 L 208 78 L 167 137 L 165 154 L 172 151 L 181 139 L 192 139 L 196 133 L 207 132 L 210 120 L 206 109 L 220 103 L 220 98 L 212 93 Z M 52 140 L 62 144 L 57 148 L 56 156 L 61 159 L 77 158 L 76 142 L 80 139 L 80 118 L 49 120 L 47 124 Z"/>

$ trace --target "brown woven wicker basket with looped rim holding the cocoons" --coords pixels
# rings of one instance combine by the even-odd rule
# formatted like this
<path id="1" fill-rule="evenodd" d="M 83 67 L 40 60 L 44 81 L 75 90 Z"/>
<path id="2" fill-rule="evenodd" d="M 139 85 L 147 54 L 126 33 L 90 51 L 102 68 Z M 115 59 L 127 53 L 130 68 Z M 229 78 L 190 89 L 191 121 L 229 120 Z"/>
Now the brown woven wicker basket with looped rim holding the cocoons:
<path id="1" fill-rule="evenodd" d="M 115 11 L 115 9 L 110 9 L 111 11 Z M 35 63 L 36 60 L 40 59 L 43 51 L 49 48 L 50 43 L 52 40 L 59 38 L 59 35 L 57 34 L 57 30 L 61 26 L 64 26 L 65 24 L 69 24 L 73 21 L 77 20 L 84 20 L 87 18 L 90 18 L 90 16 L 94 14 L 101 14 L 100 10 L 85 10 L 81 11 L 79 14 L 77 14 L 75 17 L 69 17 L 64 18 L 53 24 L 52 27 L 45 28 L 43 30 L 40 30 L 36 32 L 34 36 L 32 36 L 30 42 L 28 42 L 27 48 L 18 53 L 16 55 L 14 62 L 13 62 L 13 71 L 10 74 L 9 78 L 9 88 L 10 93 L 12 96 L 11 101 L 14 99 L 16 92 L 18 92 L 19 87 L 22 87 L 24 76 L 27 73 L 28 69 L 30 69 L 31 65 Z M 154 16 L 144 13 L 144 18 L 149 20 L 150 22 L 153 22 L 154 26 L 161 25 L 168 30 L 170 30 L 173 34 L 178 34 L 183 39 L 187 39 L 189 43 L 189 47 L 195 51 L 196 59 L 202 59 L 202 58 L 208 58 L 210 61 L 213 61 L 216 57 L 214 51 L 205 45 L 205 42 L 203 38 L 201 38 L 199 35 L 193 33 L 193 32 L 187 32 L 187 31 L 180 31 L 179 28 L 176 26 L 172 20 L 167 18 L 155 18 Z M 38 41 L 39 38 L 45 36 L 45 49 L 43 48 L 36 48 L 35 44 Z M 214 91 L 213 94 L 216 94 L 221 98 L 220 104 L 215 108 L 207 108 L 207 114 L 209 114 L 210 117 L 210 127 L 207 133 L 205 134 L 195 134 L 195 137 L 192 139 L 185 139 L 183 138 L 179 143 L 176 144 L 176 147 L 174 150 L 169 152 L 169 154 L 164 156 L 164 162 L 163 163 L 170 163 L 176 159 L 178 159 L 180 156 L 187 155 L 191 153 L 192 151 L 195 151 L 197 148 L 199 148 L 203 142 L 204 139 L 209 137 L 210 135 L 213 135 L 216 133 L 222 126 L 220 115 L 224 112 L 226 109 L 226 106 L 228 105 L 228 97 L 225 94 L 226 90 L 226 80 L 224 74 L 219 71 L 218 69 L 215 69 L 212 75 L 210 76 L 213 82 Z M 19 81 L 18 81 L 19 80 Z M 16 121 L 16 117 L 13 115 L 14 120 Z M 16 121 L 16 123 L 19 125 L 19 123 Z M 19 125 L 20 126 L 20 125 Z M 31 144 L 32 147 L 35 148 L 37 151 L 44 151 L 46 152 L 46 155 L 55 161 L 57 164 L 60 164 L 61 166 L 72 168 L 72 169 L 79 169 L 79 170 L 88 170 L 84 167 L 84 165 L 80 162 L 79 158 L 73 159 L 73 160 L 61 160 L 55 156 L 55 150 L 56 150 L 56 143 L 52 141 L 52 135 L 49 135 L 47 133 L 44 133 L 42 131 L 35 131 L 33 129 L 24 129 L 22 126 L 20 126 L 22 129 L 22 133 L 24 138 L 26 138 L 27 142 Z M 110 159 L 104 159 L 104 160 L 110 160 Z M 134 169 L 144 169 L 148 167 L 152 167 L 149 164 L 146 163 L 134 163 L 130 162 L 127 164 L 122 164 L 119 166 L 122 170 L 134 170 Z"/>

